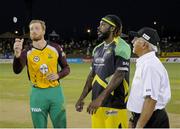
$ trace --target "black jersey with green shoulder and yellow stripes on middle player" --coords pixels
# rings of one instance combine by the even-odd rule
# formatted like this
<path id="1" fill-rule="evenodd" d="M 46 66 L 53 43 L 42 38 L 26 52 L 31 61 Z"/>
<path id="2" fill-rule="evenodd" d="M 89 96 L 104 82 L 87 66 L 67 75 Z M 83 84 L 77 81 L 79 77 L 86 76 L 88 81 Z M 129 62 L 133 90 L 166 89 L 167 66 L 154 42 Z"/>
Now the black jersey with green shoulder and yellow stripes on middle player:
<path id="1" fill-rule="evenodd" d="M 126 71 L 122 83 L 103 101 L 102 107 L 126 108 L 130 55 L 130 46 L 120 37 L 110 44 L 103 42 L 94 48 L 92 71 L 95 77 L 92 82 L 92 100 L 96 99 L 107 87 L 116 70 Z"/>

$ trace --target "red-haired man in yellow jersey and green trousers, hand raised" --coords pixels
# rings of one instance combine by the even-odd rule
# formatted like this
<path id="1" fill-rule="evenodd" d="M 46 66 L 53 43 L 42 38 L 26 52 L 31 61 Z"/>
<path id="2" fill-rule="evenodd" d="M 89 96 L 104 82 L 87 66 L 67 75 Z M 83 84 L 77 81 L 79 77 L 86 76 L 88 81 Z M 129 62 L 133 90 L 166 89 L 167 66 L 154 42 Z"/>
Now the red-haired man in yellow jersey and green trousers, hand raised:
<path id="1" fill-rule="evenodd" d="M 19 74 L 27 66 L 32 86 L 30 110 L 34 127 L 47 128 L 49 114 L 54 128 L 65 128 L 64 95 L 59 82 L 70 73 L 65 54 L 58 44 L 45 41 L 44 21 L 32 20 L 29 29 L 32 47 L 22 50 L 23 39 L 15 39 L 13 70 Z"/>

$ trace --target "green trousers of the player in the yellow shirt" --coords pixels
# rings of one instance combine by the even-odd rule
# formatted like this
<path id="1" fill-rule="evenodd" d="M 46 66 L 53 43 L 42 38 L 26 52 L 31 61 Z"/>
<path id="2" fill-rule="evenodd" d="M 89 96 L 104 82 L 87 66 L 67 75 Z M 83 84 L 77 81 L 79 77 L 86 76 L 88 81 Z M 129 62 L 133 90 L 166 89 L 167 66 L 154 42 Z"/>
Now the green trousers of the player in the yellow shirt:
<path id="1" fill-rule="evenodd" d="M 66 111 L 61 86 L 32 87 L 30 108 L 34 128 L 47 128 L 48 114 L 54 128 L 66 128 Z"/>

